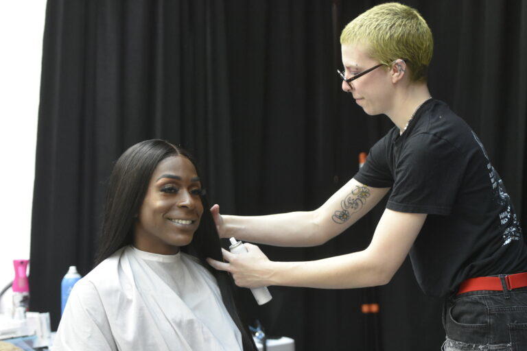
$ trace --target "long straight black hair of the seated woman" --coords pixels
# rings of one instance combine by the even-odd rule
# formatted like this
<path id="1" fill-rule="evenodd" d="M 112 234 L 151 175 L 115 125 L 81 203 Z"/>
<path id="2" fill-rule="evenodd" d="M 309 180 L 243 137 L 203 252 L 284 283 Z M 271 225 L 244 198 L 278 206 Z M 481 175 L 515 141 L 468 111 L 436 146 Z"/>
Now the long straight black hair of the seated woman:
<path id="1" fill-rule="evenodd" d="M 121 247 L 132 243 L 134 215 L 139 213 L 154 170 L 159 162 L 169 156 L 186 157 L 196 167 L 196 162 L 185 149 L 159 139 L 142 141 L 133 145 L 115 162 L 106 190 L 102 235 L 95 255 L 95 265 L 104 261 Z M 198 167 L 196 167 L 196 172 L 199 176 Z M 202 265 L 215 276 L 223 303 L 242 333 L 244 351 L 257 350 L 246 324 L 239 318 L 233 298 L 234 282 L 231 276 L 224 271 L 213 269 L 205 261 L 207 257 L 222 261 L 222 250 L 220 237 L 209 211 L 207 197 L 202 195 L 201 201 L 204 211 L 200 226 L 194 233 L 192 242 L 184 248 L 184 251 L 198 257 Z"/>

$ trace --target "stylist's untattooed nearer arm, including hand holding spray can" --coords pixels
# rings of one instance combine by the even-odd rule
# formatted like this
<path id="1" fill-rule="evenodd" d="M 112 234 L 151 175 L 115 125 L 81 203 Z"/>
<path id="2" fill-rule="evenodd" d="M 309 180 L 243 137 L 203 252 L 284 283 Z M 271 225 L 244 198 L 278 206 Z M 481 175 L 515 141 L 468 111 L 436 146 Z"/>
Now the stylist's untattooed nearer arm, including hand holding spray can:
<path id="1" fill-rule="evenodd" d="M 273 262 L 255 245 L 231 254 L 226 262 L 208 258 L 215 269 L 229 271 L 239 287 L 283 285 L 321 289 L 351 289 L 387 284 L 417 238 L 426 219 L 421 213 L 386 209 L 366 250 L 307 262 Z"/>

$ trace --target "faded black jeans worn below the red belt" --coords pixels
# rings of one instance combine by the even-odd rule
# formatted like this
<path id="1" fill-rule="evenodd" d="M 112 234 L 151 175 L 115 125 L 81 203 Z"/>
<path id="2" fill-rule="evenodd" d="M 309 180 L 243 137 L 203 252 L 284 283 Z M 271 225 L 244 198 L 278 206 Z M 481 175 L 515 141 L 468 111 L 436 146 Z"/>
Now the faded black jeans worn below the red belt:
<path id="1" fill-rule="evenodd" d="M 445 351 L 527 351 L 527 287 L 452 295 L 443 326 Z"/>

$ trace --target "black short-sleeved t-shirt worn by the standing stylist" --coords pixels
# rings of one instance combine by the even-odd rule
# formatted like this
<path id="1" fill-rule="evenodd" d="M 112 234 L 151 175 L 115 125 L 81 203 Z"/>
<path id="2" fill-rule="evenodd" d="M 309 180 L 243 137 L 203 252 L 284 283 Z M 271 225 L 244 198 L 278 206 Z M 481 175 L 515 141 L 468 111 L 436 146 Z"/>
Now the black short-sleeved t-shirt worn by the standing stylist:
<path id="1" fill-rule="evenodd" d="M 453 293 L 467 278 L 527 271 L 527 245 L 500 175 L 443 101 L 426 101 L 401 136 L 390 130 L 354 178 L 391 187 L 390 210 L 428 214 L 410 250 L 425 294 Z"/>

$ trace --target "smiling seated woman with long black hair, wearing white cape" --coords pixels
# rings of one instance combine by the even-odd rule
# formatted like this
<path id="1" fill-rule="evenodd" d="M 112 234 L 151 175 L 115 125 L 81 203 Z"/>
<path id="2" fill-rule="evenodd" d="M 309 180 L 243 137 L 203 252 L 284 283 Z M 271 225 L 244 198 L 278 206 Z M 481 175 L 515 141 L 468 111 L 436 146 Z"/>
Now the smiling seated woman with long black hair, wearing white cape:
<path id="1" fill-rule="evenodd" d="M 208 208 L 183 149 L 126 150 L 108 180 L 97 266 L 73 287 L 54 351 L 256 350 L 231 277 L 204 261 L 222 257 Z"/>

